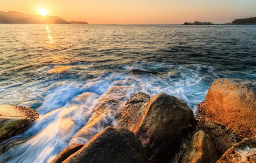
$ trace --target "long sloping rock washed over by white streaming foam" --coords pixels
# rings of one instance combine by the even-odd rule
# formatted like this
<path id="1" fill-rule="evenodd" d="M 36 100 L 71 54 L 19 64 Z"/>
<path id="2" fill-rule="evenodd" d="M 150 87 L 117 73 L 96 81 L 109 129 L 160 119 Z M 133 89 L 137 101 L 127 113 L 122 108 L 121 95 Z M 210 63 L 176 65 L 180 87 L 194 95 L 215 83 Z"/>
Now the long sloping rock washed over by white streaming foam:
<path id="1" fill-rule="evenodd" d="M 101 95 L 99 104 L 93 110 L 91 118 L 70 140 L 71 144 L 88 142 L 92 136 L 107 126 L 112 126 L 115 112 L 120 106 L 120 101 L 126 97 L 127 86 L 112 86 Z"/>

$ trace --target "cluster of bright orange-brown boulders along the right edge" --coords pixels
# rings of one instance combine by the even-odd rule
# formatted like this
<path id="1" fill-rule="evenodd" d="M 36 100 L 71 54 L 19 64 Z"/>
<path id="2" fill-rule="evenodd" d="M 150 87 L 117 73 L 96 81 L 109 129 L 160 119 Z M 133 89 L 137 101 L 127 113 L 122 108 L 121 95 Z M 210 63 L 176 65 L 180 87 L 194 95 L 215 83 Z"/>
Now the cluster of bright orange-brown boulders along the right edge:
<path id="1" fill-rule="evenodd" d="M 217 163 L 256 162 L 256 80 L 216 79 L 198 110 L 198 130 L 213 141 Z"/>

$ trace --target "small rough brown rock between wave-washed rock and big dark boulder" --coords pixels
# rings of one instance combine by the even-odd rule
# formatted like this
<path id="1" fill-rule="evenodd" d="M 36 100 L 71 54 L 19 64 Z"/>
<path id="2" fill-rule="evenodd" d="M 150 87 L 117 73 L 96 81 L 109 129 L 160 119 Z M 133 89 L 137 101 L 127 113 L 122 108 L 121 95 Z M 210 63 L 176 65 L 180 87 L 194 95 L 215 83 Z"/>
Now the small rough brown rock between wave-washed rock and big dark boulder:
<path id="1" fill-rule="evenodd" d="M 126 103 L 122 110 L 122 116 L 117 118 L 121 126 L 131 128 L 140 119 L 146 106 L 150 100 L 150 96 L 144 93 L 134 94 Z"/>

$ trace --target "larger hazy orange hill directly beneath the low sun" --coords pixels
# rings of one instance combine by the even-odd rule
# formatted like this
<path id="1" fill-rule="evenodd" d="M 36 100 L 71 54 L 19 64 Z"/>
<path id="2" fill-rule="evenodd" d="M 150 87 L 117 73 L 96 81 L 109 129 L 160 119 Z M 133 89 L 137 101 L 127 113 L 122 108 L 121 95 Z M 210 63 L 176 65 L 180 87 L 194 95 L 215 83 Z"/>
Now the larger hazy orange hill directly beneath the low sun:
<path id="1" fill-rule="evenodd" d="M 0 24 L 71 24 L 58 16 L 30 15 L 22 12 L 0 11 Z M 88 23 L 87 23 L 88 24 Z"/>

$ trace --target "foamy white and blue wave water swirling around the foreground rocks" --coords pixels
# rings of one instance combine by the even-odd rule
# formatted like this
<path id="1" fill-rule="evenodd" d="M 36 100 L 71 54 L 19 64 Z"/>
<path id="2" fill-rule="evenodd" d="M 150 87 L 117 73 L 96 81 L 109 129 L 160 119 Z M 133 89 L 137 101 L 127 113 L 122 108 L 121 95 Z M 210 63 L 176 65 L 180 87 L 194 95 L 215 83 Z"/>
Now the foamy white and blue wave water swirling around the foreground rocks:
<path id="1" fill-rule="evenodd" d="M 130 69 L 154 70 L 159 75 L 131 75 Z M 24 134 L 3 142 L 0 148 L 9 151 L 0 156 L 7 163 L 46 163 L 61 150 L 73 143 L 86 143 L 106 126 L 118 125 L 115 115 L 129 97 L 136 92 L 151 97 L 160 92 L 183 99 L 197 114 L 196 105 L 207 92 L 208 84 L 202 82 L 202 69 L 211 67 L 189 65 L 187 67 L 167 63 L 133 63 L 122 66 L 122 72 L 101 72 L 96 78 L 82 82 L 51 82 L 46 88 L 30 96 L 43 97 L 37 109 L 40 118 Z M 93 73 L 93 72 L 91 72 Z M 96 73 L 96 72 L 95 72 Z M 28 88 L 40 88 L 38 82 Z M 47 91 L 45 91 L 47 89 Z"/>

